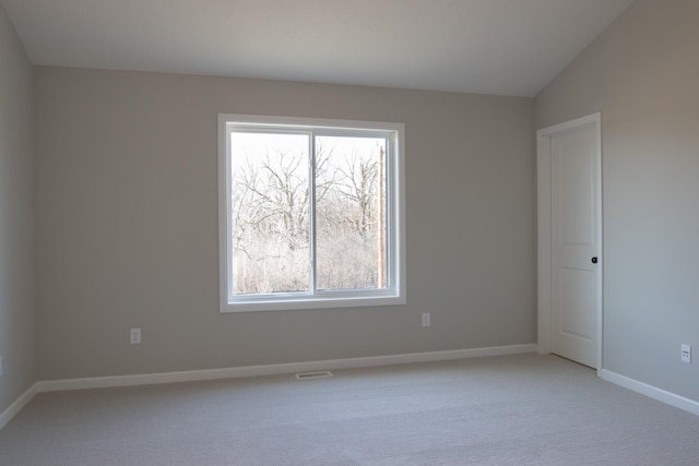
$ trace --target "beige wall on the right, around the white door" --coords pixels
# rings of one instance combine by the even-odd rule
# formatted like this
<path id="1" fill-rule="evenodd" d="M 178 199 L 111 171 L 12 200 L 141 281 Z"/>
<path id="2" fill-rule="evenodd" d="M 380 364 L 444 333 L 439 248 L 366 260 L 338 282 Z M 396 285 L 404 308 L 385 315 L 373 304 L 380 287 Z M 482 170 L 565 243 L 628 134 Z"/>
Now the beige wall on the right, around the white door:
<path id="1" fill-rule="evenodd" d="M 697 402 L 698 24 L 637 0 L 536 98 L 537 128 L 602 111 L 604 368 Z"/>

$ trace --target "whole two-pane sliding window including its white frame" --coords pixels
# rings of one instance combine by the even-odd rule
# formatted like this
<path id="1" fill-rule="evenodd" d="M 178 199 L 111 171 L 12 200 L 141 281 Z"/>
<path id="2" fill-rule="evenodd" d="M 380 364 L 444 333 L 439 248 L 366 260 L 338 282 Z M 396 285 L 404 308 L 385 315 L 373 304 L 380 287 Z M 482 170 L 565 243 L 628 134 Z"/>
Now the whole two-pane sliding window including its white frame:
<path id="1" fill-rule="evenodd" d="M 221 311 L 405 303 L 403 124 L 218 117 Z"/>

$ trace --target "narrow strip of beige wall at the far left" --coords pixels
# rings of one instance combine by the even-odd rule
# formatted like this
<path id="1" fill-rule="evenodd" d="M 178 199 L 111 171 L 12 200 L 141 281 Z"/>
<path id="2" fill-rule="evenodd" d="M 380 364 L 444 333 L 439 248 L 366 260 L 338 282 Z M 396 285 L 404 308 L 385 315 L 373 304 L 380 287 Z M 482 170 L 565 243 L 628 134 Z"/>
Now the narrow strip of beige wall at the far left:
<path id="1" fill-rule="evenodd" d="M 32 68 L 0 5 L 0 413 L 37 377 L 32 187 Z"/>

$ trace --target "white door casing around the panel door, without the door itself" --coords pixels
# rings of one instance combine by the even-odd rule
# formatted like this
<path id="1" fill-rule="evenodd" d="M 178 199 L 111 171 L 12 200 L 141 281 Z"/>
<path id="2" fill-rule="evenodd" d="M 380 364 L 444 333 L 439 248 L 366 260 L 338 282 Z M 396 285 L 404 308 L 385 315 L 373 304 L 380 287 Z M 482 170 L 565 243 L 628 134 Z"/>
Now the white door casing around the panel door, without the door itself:
<path id="1" fill-rule="evenodd" d="M 596 134 L 596 198 L 597 198 L 597 235 L 600 253 L 597 273 L 597 299 L 596 299 L 596 369 L 597 374 L 602 371 L 602 336 L 603 336 L 603 274 L 604 254 L 602 236 L 602 113 L 593 113 L 578 118 L 553 127 L 541 129 L 536 132 L 536 184 L 537 184 L 537 312 L 538 312 L 538 353 L 542 355 L 552 353 L 553 328 L 552 328 L 552 139 L 562 132 L 594 126 Z"/>

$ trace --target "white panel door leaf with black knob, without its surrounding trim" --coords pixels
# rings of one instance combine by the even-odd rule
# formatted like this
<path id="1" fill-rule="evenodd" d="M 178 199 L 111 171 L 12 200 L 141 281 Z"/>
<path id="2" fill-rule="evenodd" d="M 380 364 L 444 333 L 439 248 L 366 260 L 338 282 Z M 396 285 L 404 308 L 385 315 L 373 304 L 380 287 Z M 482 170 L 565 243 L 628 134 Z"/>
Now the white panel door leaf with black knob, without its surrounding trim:
<path id="1" fill-rule="evenodd" d="M 550 138 L 553 353 L 596 367 L 597 143 L 594 126 Z"/>

